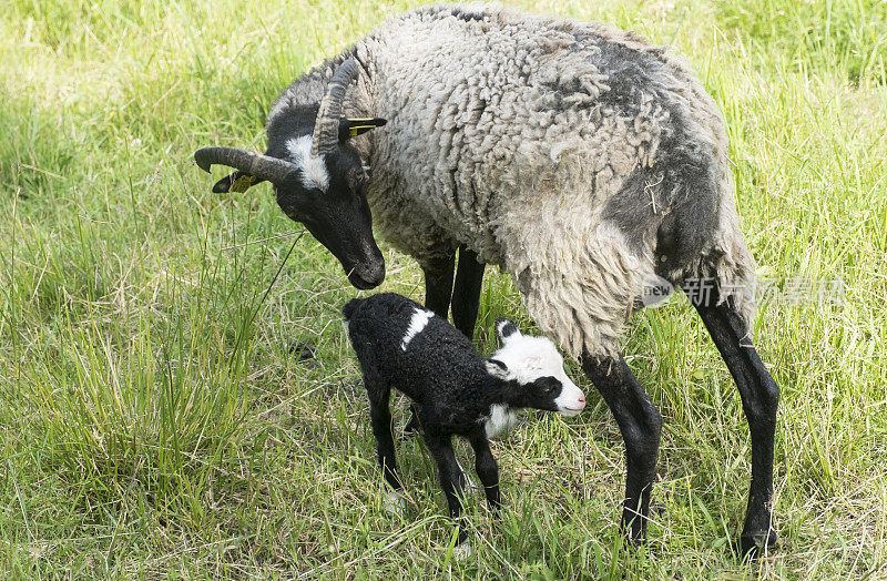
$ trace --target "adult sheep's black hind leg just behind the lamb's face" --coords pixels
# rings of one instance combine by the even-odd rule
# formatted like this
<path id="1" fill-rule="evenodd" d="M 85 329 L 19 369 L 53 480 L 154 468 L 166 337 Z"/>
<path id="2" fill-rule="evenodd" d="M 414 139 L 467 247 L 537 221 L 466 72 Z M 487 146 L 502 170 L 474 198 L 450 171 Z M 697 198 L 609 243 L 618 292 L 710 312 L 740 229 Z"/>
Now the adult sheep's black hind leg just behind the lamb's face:
<path id="1" fill-rule="evenodd" d="M 630 528 L 633 542 L 642 542 L 646 538 L 650 489 L 656 470 L 662 416 L 621 355 L 592 357 L 585 351 L 582 369 L 603 396 L 625 441 L 628 475 L 622 528 Z"/>

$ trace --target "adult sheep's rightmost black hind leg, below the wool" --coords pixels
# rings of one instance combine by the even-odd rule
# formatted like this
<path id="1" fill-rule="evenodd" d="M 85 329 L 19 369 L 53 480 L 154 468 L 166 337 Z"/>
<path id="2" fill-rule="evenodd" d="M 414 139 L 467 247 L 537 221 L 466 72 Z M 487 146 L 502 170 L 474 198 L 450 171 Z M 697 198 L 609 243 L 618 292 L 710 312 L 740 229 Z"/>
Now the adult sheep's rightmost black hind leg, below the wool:
<path id="1" fill-rule="evenodd" d="M 690 295 L 689 295 L 690 296 Z M 762 550 L 777 542 L 772 527 L 773 438 L 776 432 L 776 408 L 779 387 L 757 355 L 748 329 L 732 299 L 717 304 L 717 292 L 711 296 L 691 296 L 693 306 L 721 351 L 736 386 L 752 435 L 752 485 L 748 509 L 740 538 L 743 554 Z"/>

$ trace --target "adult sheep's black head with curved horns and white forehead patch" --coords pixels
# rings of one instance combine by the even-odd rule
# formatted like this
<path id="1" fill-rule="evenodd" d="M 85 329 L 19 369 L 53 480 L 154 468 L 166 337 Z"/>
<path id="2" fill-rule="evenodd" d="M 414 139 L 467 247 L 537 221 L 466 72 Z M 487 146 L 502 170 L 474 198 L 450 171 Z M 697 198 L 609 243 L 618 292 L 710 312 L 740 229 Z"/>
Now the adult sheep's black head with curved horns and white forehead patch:
<path id="1" fill-rule="evenodd" d="M 272 121 L 264 155 L 205 147 L 194 159 L 207 172 L 212 164 L 237 170 L 215 184 L 217 193 L 244 192 L 256 183 L 271 182 L 281 210 L 303 223 L 338 258 L 348 281 L 357 288 L 373 288 L 385 278 L 385 258 L 373 237 L 366 197 L 368 172 L 348 140 L 384 125 L 385 120 L 341 116 L 345 90 L 357 72 L 354 60 L 343 62 L 319 105 L 306 108 L 300 118 L 283 120 L 287 126 L 282 131 L 272 131 Z M 281 134 L 285 137 L 275 139 Z"/>

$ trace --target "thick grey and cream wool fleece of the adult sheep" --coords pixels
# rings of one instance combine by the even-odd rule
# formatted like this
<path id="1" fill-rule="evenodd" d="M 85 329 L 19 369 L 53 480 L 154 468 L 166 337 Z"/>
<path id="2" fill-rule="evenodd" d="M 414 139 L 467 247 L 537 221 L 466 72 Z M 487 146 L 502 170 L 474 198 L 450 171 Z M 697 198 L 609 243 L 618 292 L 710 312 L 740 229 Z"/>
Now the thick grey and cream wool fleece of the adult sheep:
<path id="1" fill-rule="evenodd" d="M 303 77 L 275 120 L 317 102 L 345 59 L 376 233 L 420 263 L 466 244 L 510 272 L 570 355 L 610 355 L 644 281 L 713 277 L 751 318 L 724 121 L 663 47 L 601 23 L 496 6 L 392 18 Z"/>

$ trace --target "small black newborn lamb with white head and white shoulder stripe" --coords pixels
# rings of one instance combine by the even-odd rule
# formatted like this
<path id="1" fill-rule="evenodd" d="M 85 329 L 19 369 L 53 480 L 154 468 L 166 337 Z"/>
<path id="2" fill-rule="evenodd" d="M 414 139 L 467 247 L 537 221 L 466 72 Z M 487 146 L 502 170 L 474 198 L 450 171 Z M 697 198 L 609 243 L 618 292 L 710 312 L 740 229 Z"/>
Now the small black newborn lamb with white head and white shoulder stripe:
<path id="1" fill-rule="evenodd" d="M 512 425 L 514 411 L 521 408 L 571 417 L 585 407 L 554 345 L 544 337 L 521 335 L 508 319 L 496 324 L 502 348 L 485 359 L 449 323 L 400 295 L 355 298 L 341 313 L 364 374 L 385 479 L 396 492 L 402 490 L 388 408 L 394 386 L 416 405 L 450 517 L 457 521 L 466 476 L 453 455 L 452 436 L 471 442 L 487 502 L 498 511 L 499 469 L 488 438 Z M 460 527 L 458 542 L 466 538 Z"/>

